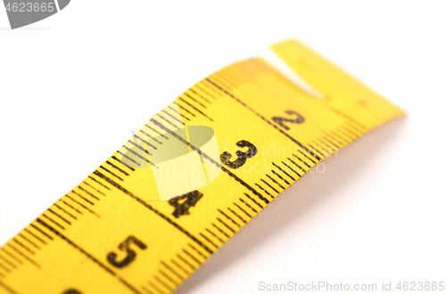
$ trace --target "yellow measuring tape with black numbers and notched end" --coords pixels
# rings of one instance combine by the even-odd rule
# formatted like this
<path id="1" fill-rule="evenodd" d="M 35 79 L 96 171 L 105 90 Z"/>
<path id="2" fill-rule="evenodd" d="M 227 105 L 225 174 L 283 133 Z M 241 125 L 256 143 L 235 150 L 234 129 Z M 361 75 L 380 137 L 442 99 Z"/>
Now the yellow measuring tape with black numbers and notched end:
<path id="1" fill-rule="evenodd" d="M 403 114 L 296 41 L 272 49 L 323 99 L 261 59 L 203 79 L 0 249 L 0 293 L 172 292 L 311 167 Z"/>

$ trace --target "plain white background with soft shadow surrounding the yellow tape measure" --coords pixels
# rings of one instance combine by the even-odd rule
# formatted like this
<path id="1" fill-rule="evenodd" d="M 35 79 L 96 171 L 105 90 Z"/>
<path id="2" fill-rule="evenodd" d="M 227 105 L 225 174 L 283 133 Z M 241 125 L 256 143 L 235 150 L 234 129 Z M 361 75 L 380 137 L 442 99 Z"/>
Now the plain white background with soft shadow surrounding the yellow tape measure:
<path id="1" fill-rule="evenodd" d="M 0 244 L 201 78 L 295 37 L 407 111 L 326 160 L 178 293 L 446 281 L 442 1 L 81 1 L 0 9 Z"/>

